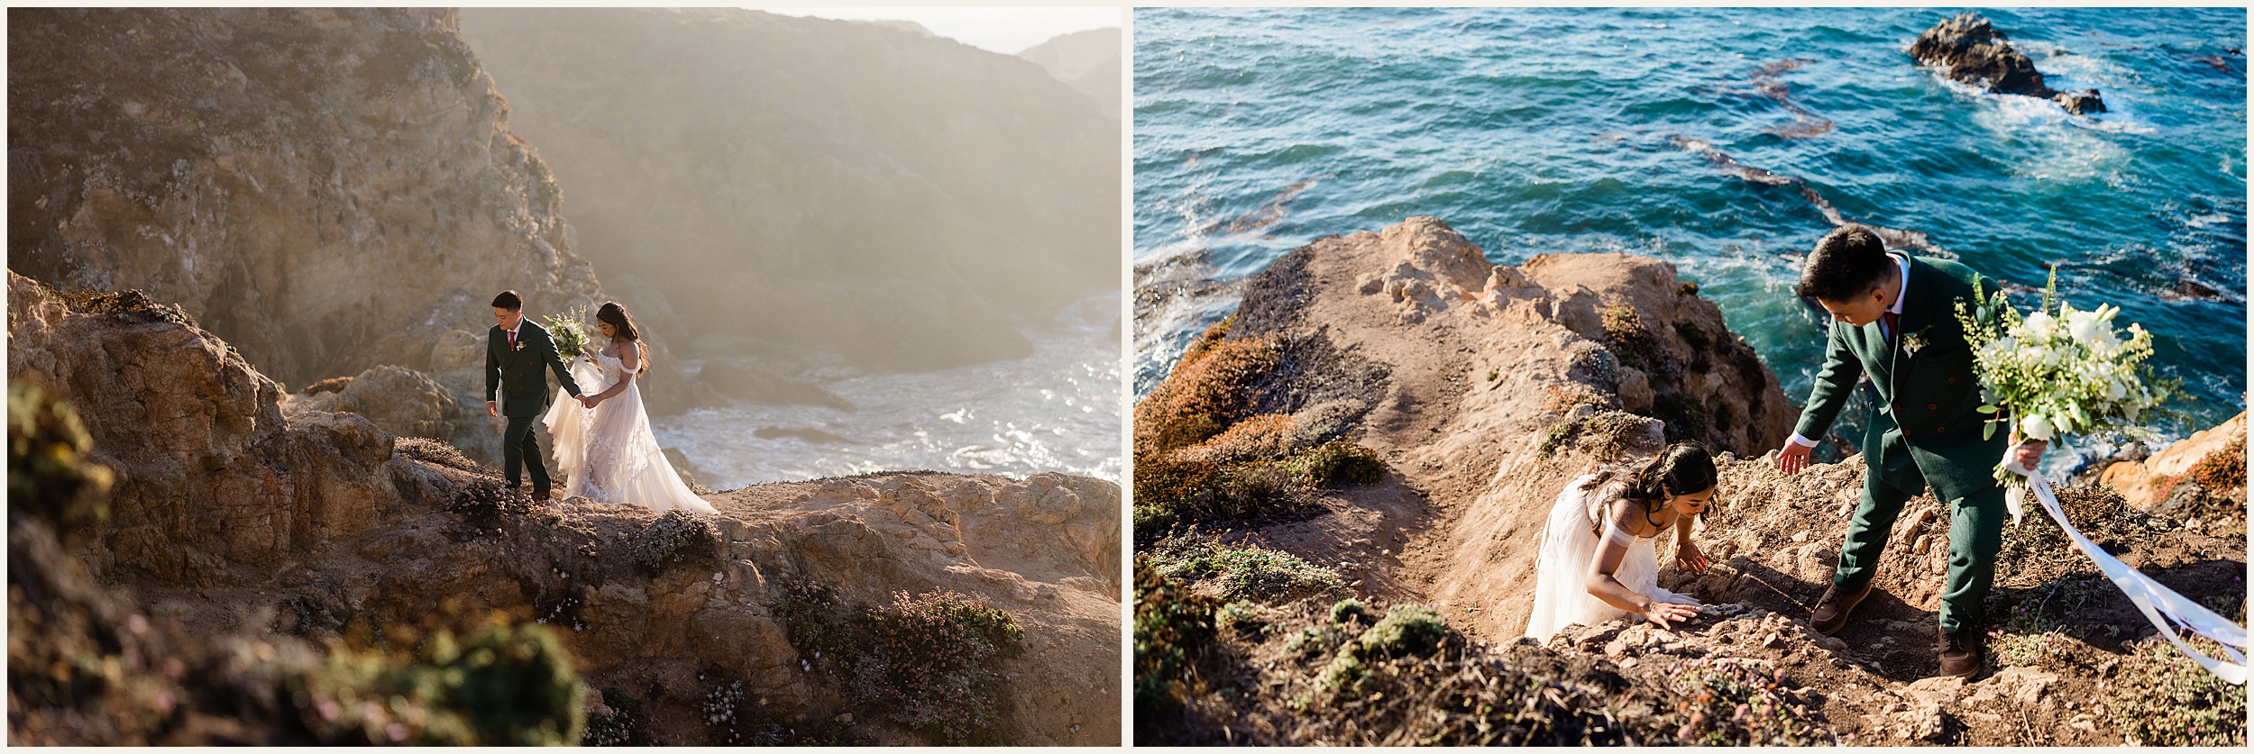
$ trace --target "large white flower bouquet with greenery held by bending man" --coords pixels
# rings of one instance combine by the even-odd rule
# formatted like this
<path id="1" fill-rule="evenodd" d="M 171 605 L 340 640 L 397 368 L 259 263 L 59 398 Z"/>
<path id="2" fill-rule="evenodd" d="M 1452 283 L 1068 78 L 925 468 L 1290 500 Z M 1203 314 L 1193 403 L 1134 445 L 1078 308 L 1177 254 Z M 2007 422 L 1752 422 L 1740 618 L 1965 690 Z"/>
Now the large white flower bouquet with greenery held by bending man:
<path id="1" fill-rule="evenodd" d="M 2051 304 L 2058 304 L 2051 313 Z M 2051 441 L 2067 432 L 2121 432 L 2150 439 L 2153 430 L 2137 425 L 2173 394 L 2171 383 L 2155 378 L 2146 358 L 2153 356 L 2153 333 L 2128 326 L 2128 340 L 2112 320 L 2121 306 L 2098 304 L 2076 311 L 2058 299 L 2058 270 L 2042 290 L 2042 308 L 2020 317 L 2004 293 L 1965 306 L 1956 302 L 1956 322 L 1972 344 L 1972 369 L 1984 387 L 1981 414 L 1990 414 L 1981 439 L 1997 425 L 2017 428 L 2026 439 Z M 2024 477 L 1995 468 L 1997 482 L 2026 484 Z"/>

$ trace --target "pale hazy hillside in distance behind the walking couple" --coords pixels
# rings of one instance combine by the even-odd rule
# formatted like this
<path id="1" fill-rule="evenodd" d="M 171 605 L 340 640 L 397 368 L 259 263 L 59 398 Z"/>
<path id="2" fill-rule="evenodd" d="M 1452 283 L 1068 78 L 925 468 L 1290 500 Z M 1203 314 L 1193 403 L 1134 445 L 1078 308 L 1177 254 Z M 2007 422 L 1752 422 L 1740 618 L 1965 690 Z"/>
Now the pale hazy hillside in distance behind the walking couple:
<path id="1" fill-rule="evenodd" d="M 467 9 L 577 248 L 712 356 L 870 369 L 1030 353 L 1118 281 L 1118 117 L 929 34 L 739 9 Z"/>

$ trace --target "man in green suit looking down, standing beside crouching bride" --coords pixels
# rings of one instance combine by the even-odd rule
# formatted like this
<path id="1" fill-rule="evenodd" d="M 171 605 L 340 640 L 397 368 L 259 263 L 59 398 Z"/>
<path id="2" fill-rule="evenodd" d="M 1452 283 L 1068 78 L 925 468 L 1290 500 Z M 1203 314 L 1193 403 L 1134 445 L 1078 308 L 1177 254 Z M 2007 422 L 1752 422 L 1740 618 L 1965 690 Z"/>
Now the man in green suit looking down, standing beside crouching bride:
<path id="1" fill-rule="evenodd" d="M 1902 502 L 1929 484 L 1950 506 L 1950 574 L 1941 592 L 1941 673 L 1975 675 L 1986 653 L 1981 599 L 1995 583 L 2004 547 L 2004 488 L 1990 475 L 2011 439 L 1981 439 L 1981 389 L 1972 347 L 1956 322 L 1956 302 L 1979 306 L 1995 295 L 1993 279 L 1947 259 L 1887 252 L 1869 227 L 1844 225 L 1817 241 L 1801 268 L 1799 295 L 1833 315 L 1823 371 L 1817 371 L 1808 410 L 1776 466 L 1792 475 L 1808 468 L 1810 437 L 1823 437 L 1846 405 L 1855 380 L 1878 387 L 1880 412 L 1862 437 L 1862 502 L 1839 547 L 1839 572 L 1817 599 L 1810 628 L 1837 632 L 1871 594 L 1878 558 Z M 2011 448 L 2033 468 L 2044 443 Z"/>

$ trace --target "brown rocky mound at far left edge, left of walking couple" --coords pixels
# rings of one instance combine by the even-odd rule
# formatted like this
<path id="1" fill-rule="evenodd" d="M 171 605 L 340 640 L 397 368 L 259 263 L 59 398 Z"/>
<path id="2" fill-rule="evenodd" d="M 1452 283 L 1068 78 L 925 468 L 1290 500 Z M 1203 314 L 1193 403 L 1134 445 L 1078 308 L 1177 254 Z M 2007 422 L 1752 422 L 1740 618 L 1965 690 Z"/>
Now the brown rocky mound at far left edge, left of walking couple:
<path id="1" fill-rule="evenodd" d="M 284 421 L 279 387 L 176 306 L 140 293 L 72 306 L 14 272 L 7 299 L 9 380 L 79 405 L 95 461 L 119 477 L 97 574 L 223 583 L 431 502 L 390 434 L 356 414 Z"/>

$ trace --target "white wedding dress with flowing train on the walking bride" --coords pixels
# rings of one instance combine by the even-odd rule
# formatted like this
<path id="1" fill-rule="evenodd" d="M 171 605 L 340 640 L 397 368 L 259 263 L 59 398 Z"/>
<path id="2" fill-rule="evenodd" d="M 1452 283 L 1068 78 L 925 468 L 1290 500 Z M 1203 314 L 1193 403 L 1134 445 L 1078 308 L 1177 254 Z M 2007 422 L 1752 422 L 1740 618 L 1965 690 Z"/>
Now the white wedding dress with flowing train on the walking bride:
<path id="1" fill-rule="evenodd" d="M 591 396 L 618 385 L 627 371 L 618 358 L 602 353 L 588 358 L 593 360 L 575 358 L 570 374 Z M 649 432 L 649 414 L 642 410 L 642 385 L 627 385 L 593 410 L 557 389 L 557 401 L 541 423 L 554 437 L 557 468 L 568 479 L 564 495 L 654 511 L 719 513 L 681 484 L 674 464 L 658 448 L 658 437 Z"/>

